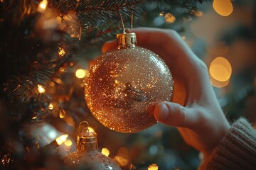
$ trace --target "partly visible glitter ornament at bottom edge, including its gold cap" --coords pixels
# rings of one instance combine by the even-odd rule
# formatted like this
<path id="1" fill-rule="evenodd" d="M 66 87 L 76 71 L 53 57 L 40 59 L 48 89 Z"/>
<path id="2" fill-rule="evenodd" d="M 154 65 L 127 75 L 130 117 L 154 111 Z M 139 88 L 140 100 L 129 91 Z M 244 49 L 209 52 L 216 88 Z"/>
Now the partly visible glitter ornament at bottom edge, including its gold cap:
<path id="1" fill-rule="evenodd" d="M 84 128 L 82 123 L 86 124 Z M 86 121 L 82 121 L 78 128 L 77 151 L 63 159 L 70 169 L 121 170 L 112 159 L 97 151 L 97 134 Z"/>

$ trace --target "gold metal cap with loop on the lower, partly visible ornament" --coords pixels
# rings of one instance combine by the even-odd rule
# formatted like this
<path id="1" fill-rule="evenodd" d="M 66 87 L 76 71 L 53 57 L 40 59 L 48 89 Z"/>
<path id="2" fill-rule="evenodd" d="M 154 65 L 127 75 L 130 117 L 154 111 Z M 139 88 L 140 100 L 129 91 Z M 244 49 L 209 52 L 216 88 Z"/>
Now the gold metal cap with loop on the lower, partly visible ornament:
<path id="1" fill-rule="evenodd" d="M 82 128 L 82 123 L 86 124 L 84 128 Z M 82 132 L 80 132 L 81 129 Z M 77 148 L 78 152 L 90 152 L 97 149 L 97 134 L 86 121 L 82 121 L 78 127 Z"/>

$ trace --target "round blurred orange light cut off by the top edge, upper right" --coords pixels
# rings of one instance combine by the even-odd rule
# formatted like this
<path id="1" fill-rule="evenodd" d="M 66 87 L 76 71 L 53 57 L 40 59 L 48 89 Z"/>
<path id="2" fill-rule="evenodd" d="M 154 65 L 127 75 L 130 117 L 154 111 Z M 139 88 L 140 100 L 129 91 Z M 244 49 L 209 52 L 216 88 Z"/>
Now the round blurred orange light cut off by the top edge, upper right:
<path id="1" fill-rule="evenodd" d="M 233 12 L 233 4 L 230 0 L 214 0 L 213 8 L 220 16 L 229 16 Z"/>

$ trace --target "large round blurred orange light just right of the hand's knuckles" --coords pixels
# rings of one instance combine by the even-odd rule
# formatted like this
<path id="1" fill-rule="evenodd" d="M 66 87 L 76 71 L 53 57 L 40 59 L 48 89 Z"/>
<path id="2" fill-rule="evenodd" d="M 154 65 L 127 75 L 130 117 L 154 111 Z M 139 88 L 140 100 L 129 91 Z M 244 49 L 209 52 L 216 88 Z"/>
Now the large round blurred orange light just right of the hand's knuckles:
<path id="1" fill-rule="evenodd" d="M 209 72 L 213 79 L 227 81 L 232 74 L 232 67 L 224 57 L 217 57 L 211 62 Z"/>

